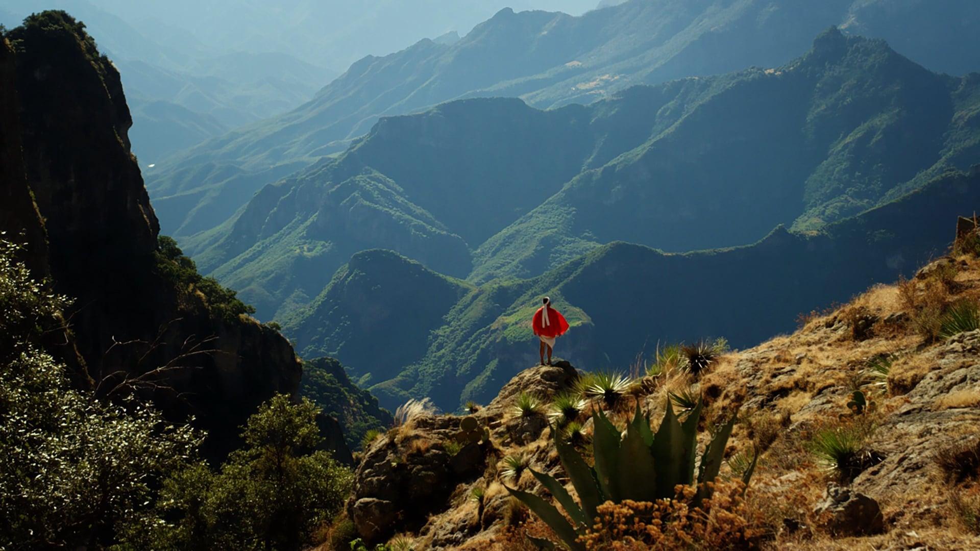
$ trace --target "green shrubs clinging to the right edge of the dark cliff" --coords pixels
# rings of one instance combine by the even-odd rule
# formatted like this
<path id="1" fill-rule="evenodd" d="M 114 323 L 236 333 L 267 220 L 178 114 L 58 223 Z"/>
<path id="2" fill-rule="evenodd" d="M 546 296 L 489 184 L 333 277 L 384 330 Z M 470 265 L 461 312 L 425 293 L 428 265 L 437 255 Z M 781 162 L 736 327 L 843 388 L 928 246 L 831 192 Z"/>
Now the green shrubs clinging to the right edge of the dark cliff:
<path id="1" fill-rule="evenodd" d="M 197 265 L 184 256 L 172 237 L 157 238 L 157 270 L 170 280 L 178 291 L 199 291 L 205 298 L 208 310 L 225 321 L 233 321 L 242 314 L 255 314 L 255 308 L 237 298 L 237 293 L 221 286 L 214 277 L 197 273 Z"/>

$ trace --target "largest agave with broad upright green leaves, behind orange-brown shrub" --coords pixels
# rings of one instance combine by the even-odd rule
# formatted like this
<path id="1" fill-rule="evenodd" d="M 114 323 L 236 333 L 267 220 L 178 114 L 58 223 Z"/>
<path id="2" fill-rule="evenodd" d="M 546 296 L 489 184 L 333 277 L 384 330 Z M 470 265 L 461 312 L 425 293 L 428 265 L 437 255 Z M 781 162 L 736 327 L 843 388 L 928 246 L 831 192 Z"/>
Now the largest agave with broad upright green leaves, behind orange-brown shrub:
<path id="1" fill-rule="evenodd" d="M 637 405 L 633 421 L 626 426 L 625 436 L 606 415 L 599 411 L 593 414 L 595 426 L 592 438 L 595 465 L 590 467 L 575 449 L 556 434 L 555 447 L 562 461 L 564 472 L 571 479 L 578 494 L 579 503 L 572 499 L 564 485 L 552 476 L 531 474 L 541 485 L 555 496 L 571 518 L 569 523 L 558 508 L 543 498 L 529 492 L 508 487 L 511 495 L 522 501 L 542 521 L 562 538 L 564 544 L 573 551 L 584 550 L 578 537 L 598 516 L 597 508 L 606 501 L 614 503 L 630 499 L 634 501 L 654 501 L 674 496 L 678 484 L 698 484 L 692 506 L 710 495 L 711 488 L 703 482 L 713 480 L 721 468 L 722 454 L 732 426 L 733 417 L 721 426 L 712 436 L 711 442 L 701 456 L 700 468 L 695 476 L 698 420 L 702 404 L 698 404 L 683 423 L 674 415 L 670 402 L 667 402 L 661 426 L 654 433 L 650 419 L 640 412 Z M 748 481 L 755 468 L 748 469 L 743 479 Z"/>

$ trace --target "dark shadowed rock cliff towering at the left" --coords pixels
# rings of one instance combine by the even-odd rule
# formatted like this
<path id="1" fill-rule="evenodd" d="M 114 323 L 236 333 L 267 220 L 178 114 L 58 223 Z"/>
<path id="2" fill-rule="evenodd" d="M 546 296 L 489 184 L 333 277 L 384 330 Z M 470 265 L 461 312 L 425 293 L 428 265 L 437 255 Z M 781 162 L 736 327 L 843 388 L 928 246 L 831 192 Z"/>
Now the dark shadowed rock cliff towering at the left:
<path id="1" fill-rule="evenodd" d="M 16 200 L 0 205 L 0 229 L 26 230 L 56 290 L 73 297 L 66 317 L 80 359 L 59 355 L 81 378 L 108 395 L 142 376 L 139 390 L 173 419 L 197 416 L 211 436 L 206 454 L 220 456 L 260 403 L 295 395 L 302 368 L 278 332 L 216 313 L 201 288 L 163 270 L 120 75 L 83 29 L 64 12 L 44 12 L 8 33 L 0 145 L 4 198 Z"/>

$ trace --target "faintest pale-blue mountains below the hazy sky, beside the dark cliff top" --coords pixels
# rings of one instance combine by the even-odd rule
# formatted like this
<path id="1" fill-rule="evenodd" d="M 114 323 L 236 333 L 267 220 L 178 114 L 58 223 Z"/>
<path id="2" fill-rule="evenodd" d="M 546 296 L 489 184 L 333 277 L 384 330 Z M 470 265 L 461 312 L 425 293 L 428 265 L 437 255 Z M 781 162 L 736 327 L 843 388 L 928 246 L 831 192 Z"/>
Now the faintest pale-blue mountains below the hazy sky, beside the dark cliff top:
<path id="1" fill-rule="evenodd" d="M 20 25 L 44 8 L 65 9 L 84 22 L 119 68 L 133 114 L 133 152 L 144 167 L 289 111 L 336 75 L 283 53 L 220 53 L 179 28 L 156 29 L 156 40 L 86 0 L 11 0 L 0 22 Z"/>

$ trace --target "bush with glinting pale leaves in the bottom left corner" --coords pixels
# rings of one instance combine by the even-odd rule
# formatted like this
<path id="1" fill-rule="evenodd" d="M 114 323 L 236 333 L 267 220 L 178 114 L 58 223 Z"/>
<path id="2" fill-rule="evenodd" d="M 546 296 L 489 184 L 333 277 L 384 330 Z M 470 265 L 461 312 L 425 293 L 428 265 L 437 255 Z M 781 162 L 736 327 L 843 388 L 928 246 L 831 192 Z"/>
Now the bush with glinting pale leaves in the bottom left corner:
<path id="1" fill-rule="evenodd" d="M 190 460 L 198 435 L 129 400 L 96 400 L 37 347 L 68 299 L 0 240 L 0 548 L 99 548 Z"/>

